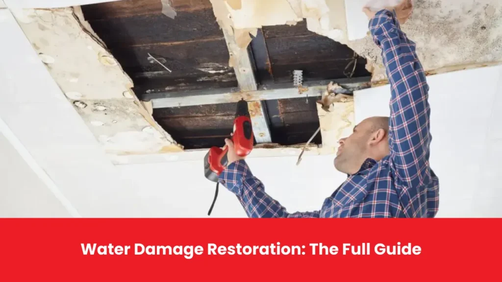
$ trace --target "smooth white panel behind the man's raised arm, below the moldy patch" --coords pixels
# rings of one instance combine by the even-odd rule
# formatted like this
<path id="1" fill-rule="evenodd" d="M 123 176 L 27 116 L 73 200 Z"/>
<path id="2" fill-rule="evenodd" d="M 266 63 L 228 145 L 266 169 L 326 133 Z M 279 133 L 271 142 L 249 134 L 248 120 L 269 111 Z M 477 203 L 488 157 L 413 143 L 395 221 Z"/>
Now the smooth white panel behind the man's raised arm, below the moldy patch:
<path id="1" fill-rule="evenodd" d="M 439 217 L 502 216 L 502 67 L 428 76 Z M 389 116 L 389 85 L 356 91 L 355 120 Z"/>

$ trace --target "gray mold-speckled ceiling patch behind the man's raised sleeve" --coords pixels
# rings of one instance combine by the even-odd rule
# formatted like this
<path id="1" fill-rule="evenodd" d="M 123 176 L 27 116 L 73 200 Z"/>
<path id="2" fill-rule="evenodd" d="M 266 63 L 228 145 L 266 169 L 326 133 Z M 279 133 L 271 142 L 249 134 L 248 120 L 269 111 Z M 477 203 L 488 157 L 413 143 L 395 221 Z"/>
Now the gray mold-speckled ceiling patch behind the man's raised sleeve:
<path id="1" fill-rule="evenodd" d="M 415 0 L 402 30 L 417 45 L 426 71 L 502 61 L 502 1 Z M 348 46 L 368 60 L 372 80 L 386 79 L 381 51 L 371 37 Z M 450 68 L 451 69 L 451 68 Z"/>

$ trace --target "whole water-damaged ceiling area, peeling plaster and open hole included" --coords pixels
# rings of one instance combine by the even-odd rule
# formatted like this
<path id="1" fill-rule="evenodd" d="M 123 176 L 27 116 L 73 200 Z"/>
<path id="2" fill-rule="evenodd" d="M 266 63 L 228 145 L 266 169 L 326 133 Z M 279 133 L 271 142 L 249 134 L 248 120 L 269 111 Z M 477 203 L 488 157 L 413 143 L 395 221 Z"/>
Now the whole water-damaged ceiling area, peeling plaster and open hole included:
<path id="1" fill-rule="evenodd" d="M 386 83 L 380 51 L 362 36 L 364 3 L 122 0 L 13 13 L 109 154 L 223 146 L 240 98 L 262 148 L 301 147 L 320 128 L 315 150 L 332 154 L 354 125 L 351 90 Z M 428 74 L 501 61 L 499 1 L 414 4 L 403 30 Z M 348 95 L 323 106 L 330 81 Z"/>

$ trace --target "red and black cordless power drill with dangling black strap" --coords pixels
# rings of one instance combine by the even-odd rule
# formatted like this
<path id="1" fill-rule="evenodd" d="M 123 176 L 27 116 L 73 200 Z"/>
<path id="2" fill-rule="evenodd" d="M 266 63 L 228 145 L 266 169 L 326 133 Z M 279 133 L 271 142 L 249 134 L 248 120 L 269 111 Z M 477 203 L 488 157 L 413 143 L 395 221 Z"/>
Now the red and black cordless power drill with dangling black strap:
<path id="1" fill-rule="evenodd" d="M 235 154 L 240 157 L 245 157 L 251 153 L 254 145 L 253 126 L 249 116 L 247 102 L 243 99 L 237 102 L 237 111 L 233 120 L 233 134 L 231 137 Z M 225 145 L 222 149 L 211 147 L 204 157 L 204 176 L 212 182 L 216 182 L 216 192 L 214 200 L 207 215 L 211 214 L 216 197 L 218 196 L 218 178 L 221 172 L 228 164 L 228 147 Z"/>

